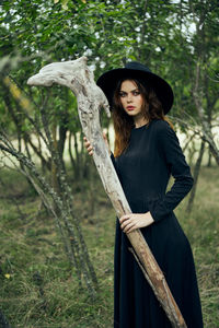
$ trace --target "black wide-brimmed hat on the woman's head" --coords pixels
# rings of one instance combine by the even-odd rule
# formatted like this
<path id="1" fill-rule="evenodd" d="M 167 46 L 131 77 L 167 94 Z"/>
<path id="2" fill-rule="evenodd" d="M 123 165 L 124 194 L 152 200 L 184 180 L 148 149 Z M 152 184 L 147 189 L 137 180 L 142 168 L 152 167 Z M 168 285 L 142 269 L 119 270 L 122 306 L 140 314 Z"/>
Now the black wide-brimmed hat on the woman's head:
<path id="1" fill-rule="evenodd" d="M 118 81 L 126 78 L 140 80 L 146 86 L 151 86 L 163 106 L 164 114 L 170 112 L 174 98 L 172 87 L 165 80 L 152 73 L 148 67 L 137 61 L 128 62 L 125 68 L 107 71 L 97 79 L 96 84 L 104 92 L 110 106 L 113 104 L 113 95 Z"/>

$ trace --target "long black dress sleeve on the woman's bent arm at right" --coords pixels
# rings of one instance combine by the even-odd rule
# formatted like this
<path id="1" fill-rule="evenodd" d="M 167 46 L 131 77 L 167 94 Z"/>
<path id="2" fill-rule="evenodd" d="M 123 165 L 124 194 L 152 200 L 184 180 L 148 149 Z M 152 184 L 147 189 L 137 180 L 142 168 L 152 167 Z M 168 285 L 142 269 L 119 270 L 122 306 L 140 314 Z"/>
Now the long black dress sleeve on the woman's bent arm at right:
<path id="1" fill-rule="evenodd" d="M 160 121 L 158 125 L 157 147 L 161 159 L 164 159 L 170 174 L 174 177 L 174 184 L 163 197 L 149 203 L 149 210 L 154 221 L 170 214 L 193 187 L 191 168 L 185 161 L 174 130 L 166 121 Z"/>

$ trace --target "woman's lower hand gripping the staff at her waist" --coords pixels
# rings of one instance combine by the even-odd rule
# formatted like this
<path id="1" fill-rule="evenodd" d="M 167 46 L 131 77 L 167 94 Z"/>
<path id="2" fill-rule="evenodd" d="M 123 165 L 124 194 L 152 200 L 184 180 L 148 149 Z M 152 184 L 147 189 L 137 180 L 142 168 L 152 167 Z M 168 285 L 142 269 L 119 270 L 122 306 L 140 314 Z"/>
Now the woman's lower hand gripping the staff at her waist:
<path id="1" fill-rule="evenodd" d="M 126 214 L 119 219 L 120 229 L 126 234 L 136 229 L 148 226 L 153 222 L 154 220 L 150 212 Z"/>

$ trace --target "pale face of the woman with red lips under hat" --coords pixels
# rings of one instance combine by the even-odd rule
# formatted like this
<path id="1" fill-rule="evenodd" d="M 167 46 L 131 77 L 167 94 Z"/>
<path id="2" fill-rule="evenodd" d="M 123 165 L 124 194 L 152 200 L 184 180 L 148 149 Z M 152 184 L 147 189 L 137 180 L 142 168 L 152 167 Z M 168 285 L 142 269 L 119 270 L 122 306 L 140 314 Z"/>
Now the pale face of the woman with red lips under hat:
<path id="1" fill-rule="evenodd" d="M 125 80 L 120 85 L 120 103 L 124 110 L 129 116 L 141 116 L 143 98 L 136 83 L 131 80 Z"/>

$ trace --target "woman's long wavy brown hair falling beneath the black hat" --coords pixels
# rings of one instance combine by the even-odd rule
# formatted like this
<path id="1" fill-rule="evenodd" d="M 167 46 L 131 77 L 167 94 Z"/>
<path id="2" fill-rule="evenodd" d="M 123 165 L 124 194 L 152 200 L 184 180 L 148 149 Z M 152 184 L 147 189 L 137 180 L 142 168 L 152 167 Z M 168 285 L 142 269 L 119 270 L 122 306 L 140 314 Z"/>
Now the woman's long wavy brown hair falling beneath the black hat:
<path id="1" fill-rule="evenodd" d="M 163 119 L 166 120 L 170 126 L 173 128 L 173 125 L 170 120 L 164 116 L 162 104 L 159 101 L 155 92 L 151 86 L 145 86 L 145 83 L 140 80 L 132 79 L 132 78 L 125 78 L 122 79 L 116 86 L 114 97 L 113 97 L 113 122 L 114 122 L 114 130 L 115 130 L 115 144 L 114 144 L 114 155 L 115 157 L 119 156 L 123 151 L 128 147 L 128 142 L 130 139 L 130 132 L 134 128 L 134 119 L 130 117 L 123 108 L 120 103 L 120 86 L 122 83 L 126 80 L 132 81 L 140 94 L 143 98 L 142 104 L 142 114 L 148 122 L 153 119 Z"/>

